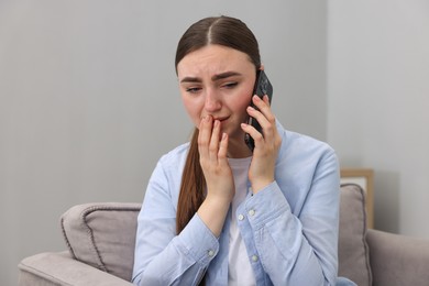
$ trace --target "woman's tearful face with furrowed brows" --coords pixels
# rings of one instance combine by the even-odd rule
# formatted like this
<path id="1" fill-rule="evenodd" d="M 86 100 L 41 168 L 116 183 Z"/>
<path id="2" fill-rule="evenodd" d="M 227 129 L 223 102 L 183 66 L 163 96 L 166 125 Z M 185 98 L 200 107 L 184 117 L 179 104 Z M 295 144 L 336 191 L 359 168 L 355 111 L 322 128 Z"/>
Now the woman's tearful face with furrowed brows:
<path id="1" fill-rule="evenodd" d="M 220 120 L 230 142 L 244 144 L 240 123 L 248 119 L 256 78 L 255 66 L 240 51 L 208 45 L 187 54 L 177 65 L 185 108 L 198 128 L 202 118 Z"/>

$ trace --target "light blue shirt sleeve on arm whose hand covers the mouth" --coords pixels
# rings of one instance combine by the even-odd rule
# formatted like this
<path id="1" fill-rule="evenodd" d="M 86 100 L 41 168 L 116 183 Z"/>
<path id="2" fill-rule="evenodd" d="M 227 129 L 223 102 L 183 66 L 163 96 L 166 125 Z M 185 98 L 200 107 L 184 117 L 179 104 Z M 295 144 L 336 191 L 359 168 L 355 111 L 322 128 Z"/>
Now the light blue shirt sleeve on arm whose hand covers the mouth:
<path id="1" fill-rule="evenodd" d="M 198 285 L 219 251 L 219 241 L 197 213 L 176 235 L 168 179 L 158 163 L 138 218 L 134 285 Z"/>

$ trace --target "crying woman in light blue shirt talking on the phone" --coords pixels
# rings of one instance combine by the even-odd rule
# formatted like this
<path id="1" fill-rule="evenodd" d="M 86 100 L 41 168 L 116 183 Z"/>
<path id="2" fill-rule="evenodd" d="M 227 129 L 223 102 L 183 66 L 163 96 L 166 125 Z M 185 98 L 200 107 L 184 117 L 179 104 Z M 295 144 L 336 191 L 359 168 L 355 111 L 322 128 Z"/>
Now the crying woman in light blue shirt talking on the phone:
<path id="1" fill-rule="evenodd" d="M 267 96 L 252 95 L 258 69 L 257 41 L 238 19 L 202 19 L 180 38 L 176 73 L 196 129 L 150 179 L 134 284 L 336 284 L 336 154 L 285 130 Z M 244 123 L 249 117 L 262 133 Z"/>

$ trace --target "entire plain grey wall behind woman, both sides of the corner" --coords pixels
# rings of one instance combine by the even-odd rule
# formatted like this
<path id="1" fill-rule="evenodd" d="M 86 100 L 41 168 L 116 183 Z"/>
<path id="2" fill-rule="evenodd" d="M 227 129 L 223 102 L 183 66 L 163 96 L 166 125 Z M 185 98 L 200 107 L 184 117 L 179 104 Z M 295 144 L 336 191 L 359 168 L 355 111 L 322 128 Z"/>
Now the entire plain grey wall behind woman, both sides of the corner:
<path id="1" fill-rule="evenodd" d="M 193 130 L 178 38 L 220 14 L 258 38 L 282 123 L 374 169 L 375 228 L 429 239 L 428 1 L 0 0 L 1 285 L 66 249 L 69 207 L 143 200 Z"/>

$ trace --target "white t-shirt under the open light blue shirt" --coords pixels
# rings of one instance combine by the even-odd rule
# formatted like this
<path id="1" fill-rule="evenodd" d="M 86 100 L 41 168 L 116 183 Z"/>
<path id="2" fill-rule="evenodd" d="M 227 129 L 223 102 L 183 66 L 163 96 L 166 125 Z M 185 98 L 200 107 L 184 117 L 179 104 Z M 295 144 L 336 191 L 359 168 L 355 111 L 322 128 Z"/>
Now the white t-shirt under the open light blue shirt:
<path id="1" fill-rule="evenodd" d="M 248 173 L 252 157 L 229 158 L 235 184 L 235 196 L 232 200 L 232 218 L 229 234 L 228 285 L 230 286 L 256 285 L 248 251 L 237 226 L 235 216 L 237 208 L 248 196 Z"/>

